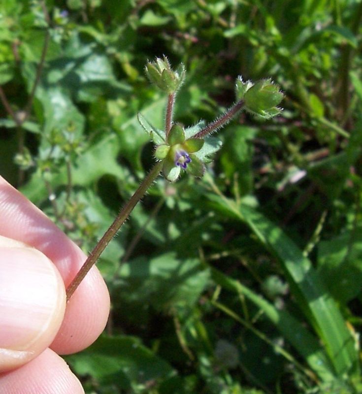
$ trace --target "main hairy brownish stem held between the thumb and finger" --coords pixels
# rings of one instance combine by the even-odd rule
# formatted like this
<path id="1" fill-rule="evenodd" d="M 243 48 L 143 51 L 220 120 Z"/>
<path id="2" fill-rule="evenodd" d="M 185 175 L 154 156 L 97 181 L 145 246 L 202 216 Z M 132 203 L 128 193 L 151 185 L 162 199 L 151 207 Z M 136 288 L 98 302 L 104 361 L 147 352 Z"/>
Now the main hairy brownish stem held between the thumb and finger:
<path id="1" fill-rule="evenodd" d="M 101 237 L 93 251 L 88 256 L 85 263 L 82 265 L 78 273 L 75 275 L 75 278 L 72 280 L 70 285 L 66 289 L 66 300 L 69 301 L 70 297 L 75 292 L 76 288 L 79 286 L 81 281 L 87 275 L 88 271 L 92 268 L 92 266 L 97 262 L 99 256 L 106 248 L 111 239 L 116 235 L 117 231 L 121 228 L 121 226 L 125 223 L 125 221 L 130 216 L 133 208 L 136 206 L 137 202 L 145 195 L 148 188 L 152 185 L 154 180 L 159 175 L 163 163 L 156 163 L 148 175 L 143 179 L 142 183 L 139 185 L 138 189 L 134 192 L 133 196 L 130 198 L 128 203 L 123 207 L 121 212 L 118 214 L 114 222 L 110 225 L 109 229 L 104 233 Z"/>

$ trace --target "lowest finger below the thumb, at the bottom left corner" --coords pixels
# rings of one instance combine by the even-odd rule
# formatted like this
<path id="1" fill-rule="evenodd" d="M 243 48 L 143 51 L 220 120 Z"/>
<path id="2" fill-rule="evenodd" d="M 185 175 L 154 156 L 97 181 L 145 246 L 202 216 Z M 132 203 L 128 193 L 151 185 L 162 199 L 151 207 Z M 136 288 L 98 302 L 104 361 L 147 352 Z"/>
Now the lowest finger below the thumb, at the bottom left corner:
<path id="1" fill-rule="evenodd" d="M 66 362 L 50 349 L 13 371 L 0 374 L 1 394 L 84 394 Z"/>

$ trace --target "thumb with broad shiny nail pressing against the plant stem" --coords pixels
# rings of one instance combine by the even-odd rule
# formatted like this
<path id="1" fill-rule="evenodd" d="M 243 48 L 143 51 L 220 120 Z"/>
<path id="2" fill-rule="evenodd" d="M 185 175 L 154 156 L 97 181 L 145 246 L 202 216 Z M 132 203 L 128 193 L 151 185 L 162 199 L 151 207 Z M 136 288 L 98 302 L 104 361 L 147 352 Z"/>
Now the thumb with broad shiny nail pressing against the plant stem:
<path id="1" fill-rule="evenodd" d="M 33 360 L 53 341 L 66 308 L 63 280 L 41 252 L 0 236 L 0 372 Z"/>

